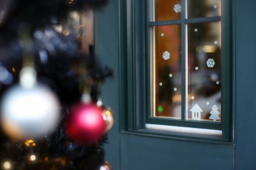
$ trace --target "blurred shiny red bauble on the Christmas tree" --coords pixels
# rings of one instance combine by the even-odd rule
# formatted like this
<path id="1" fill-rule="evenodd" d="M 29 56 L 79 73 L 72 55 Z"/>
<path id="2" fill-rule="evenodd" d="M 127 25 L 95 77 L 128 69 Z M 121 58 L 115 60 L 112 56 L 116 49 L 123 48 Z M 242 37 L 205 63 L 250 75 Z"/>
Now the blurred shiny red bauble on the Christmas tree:
<path id="1" fill-rule="evenodd" d="M 82 103 L 72 108 L 67 116 L 67 132 L 78 142 L 91 144 L 105 134 L 103 110 L 93 103 Z"/>

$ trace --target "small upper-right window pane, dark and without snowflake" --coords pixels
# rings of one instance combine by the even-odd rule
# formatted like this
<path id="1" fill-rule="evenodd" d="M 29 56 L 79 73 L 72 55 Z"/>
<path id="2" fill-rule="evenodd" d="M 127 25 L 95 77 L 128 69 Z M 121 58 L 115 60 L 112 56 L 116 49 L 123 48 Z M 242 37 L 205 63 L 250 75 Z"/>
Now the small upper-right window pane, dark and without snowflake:
<path id="1" fill-rule="evenodd" d="M 188 17 L 221 16 L 221 0 L 188 0 Z"/>

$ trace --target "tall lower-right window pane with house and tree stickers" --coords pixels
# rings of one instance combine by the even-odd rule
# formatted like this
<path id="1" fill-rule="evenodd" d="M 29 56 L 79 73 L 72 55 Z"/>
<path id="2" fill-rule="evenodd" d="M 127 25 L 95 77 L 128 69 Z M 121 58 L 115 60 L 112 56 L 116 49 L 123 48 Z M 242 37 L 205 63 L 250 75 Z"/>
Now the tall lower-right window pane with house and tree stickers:
<path id="1" fill-rule="evenodd" d="M 221 121 L 221 22 L 188 25 L 188 118 Z"/>

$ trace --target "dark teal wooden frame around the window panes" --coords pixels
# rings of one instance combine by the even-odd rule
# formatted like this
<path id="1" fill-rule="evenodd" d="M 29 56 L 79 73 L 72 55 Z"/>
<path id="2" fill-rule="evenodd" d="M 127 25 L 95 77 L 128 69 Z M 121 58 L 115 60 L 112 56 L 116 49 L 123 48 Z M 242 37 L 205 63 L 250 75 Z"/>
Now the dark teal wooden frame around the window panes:
<path id="1" fill-rule="evenodd" d="M 181 0 L 184 3 L 184 0 Z M 221 105 L 222 113 L 221 128 L 212 127 L 216 124 L 211 122 L 209 129 L 222 130 L 222 136 L 202 135 L 191 133 L 177 133 L 164 130 L 146 129 L 146 123 L 172 125 L 182 127 L 207 128 L 206 122 L 193 122 L 152 118 L 151 115 L 151 35 L 150 35 L 150 11 L 149 0 L 126 0 L 120 1 L 120 75 L 121 75 L 121 131 L 123 133 L 136 133 L 144 135 L 156 135 L 163 138 L 179 138 L 185 140 L 197 140 L 230 144 L 233 141 L 233 43 L 232 43 L 232 1 L 222 0 L 221 5 Z M 181 6 L 184 4 L 181 3 Z M 185 17 L 185 16 L 184 16 Z M 215 17 L 216 18 L 216 17 Z M 193 22 L 195 19 L 186 19 Z M 182 18 L 180 20 L 182 21 Z M 159 23 L 165 21 L 157 21 Z M 145 23 L 145 24 L 144 24 Z M 183 30 L 183 28 L 181 28 Z M 181 37 L 184 38 L 184 37 Z M 184 54 L 184 47 L 182 46 Z M 184 58 L 184 57 L 182 57 Z M 224 102 L 224 104 L 223 104 Z M 149 120 L 149 121 L 148 121 Z M 180 123 L 181 122 L 181 123 Z M 191 124 L 197 124 L 191 126 Z M 209 123 L 208 123 L 209 124 Z"/>

